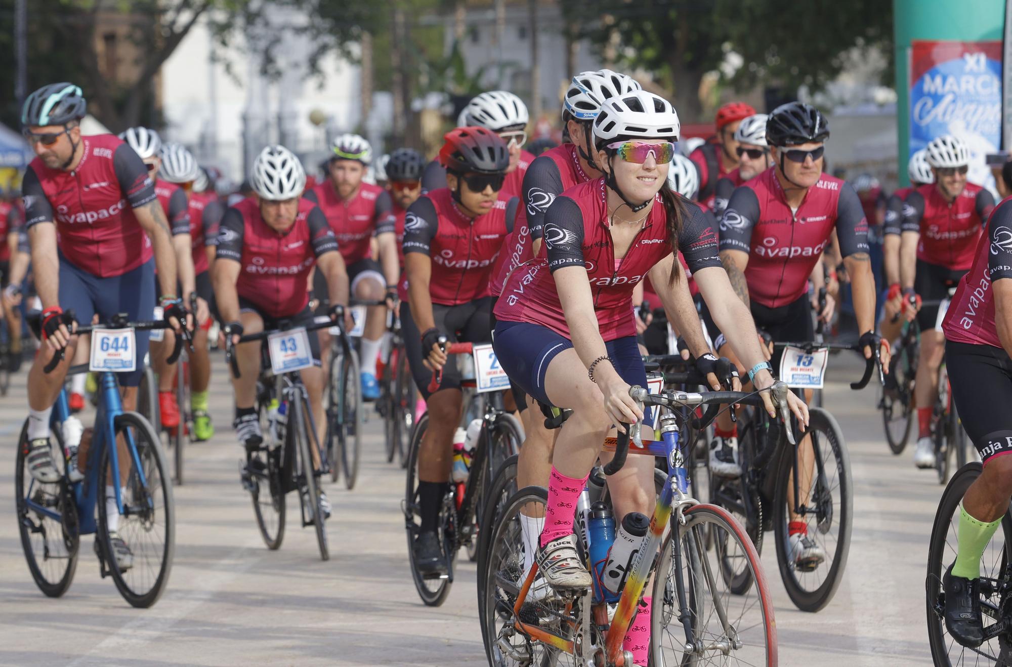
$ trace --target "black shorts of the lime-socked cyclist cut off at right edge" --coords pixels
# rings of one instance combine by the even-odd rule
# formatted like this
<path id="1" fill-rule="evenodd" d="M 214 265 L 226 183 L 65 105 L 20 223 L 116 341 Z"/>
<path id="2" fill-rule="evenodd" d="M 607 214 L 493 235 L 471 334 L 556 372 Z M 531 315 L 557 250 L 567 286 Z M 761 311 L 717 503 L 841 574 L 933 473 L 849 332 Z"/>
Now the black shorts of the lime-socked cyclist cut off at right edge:
<path id="1" fill-rule="evenodd" d="M 962 427 L 987 466 L 1012 453 L 1012 359 L 991 345 L 945 341 L 945 368 Z"/>

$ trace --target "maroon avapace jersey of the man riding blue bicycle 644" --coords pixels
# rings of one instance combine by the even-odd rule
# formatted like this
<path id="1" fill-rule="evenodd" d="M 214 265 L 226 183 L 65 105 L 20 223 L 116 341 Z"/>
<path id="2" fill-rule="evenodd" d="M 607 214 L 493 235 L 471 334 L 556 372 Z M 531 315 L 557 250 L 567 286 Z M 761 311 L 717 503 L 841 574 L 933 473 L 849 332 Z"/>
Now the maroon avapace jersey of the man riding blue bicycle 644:
<path id="1" fill-rule="evenodd" d="M 113 135 L 82 137 L 77 169 L 50 169 L 41 158 L 21 182 L 25 227 L 52 222 L 64 258 L 99 277 L 122 275 L 152 257 L 134 209 L 156 199 L 148 168 Z"/>

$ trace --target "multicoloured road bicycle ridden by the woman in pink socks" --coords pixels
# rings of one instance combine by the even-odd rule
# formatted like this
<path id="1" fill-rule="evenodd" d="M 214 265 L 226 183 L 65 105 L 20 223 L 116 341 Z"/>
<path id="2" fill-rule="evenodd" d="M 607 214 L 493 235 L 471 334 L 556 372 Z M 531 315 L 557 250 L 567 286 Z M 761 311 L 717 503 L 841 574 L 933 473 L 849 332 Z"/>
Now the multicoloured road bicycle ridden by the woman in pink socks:
<path id="1" fill-rule="evenodd" d="M 786 386 L 777 383 L 773 393 L 786 417 Z M 688 472 L 684 467 L 687 444 L 680 439 L 682 409 L 719 403 L 761 403 L 757 393 L 705 392 L 690 394 L 664 391 L 660 395 L 634 387 L 629 395 L 644 405 L 669 410 L 662 415 L 661 440 L 644 442 L 639 424 L 621 425 L 626 430 L 615 439 L 615 455 L 603 472 L 612 475 L 625 463 L 628 453 L 664 456 L 668 464 L 650 530 L 635 551 L 626 568 L 624 583 L 615 593 L 595 584 L 584 591 L 556 591 L 541 599 L 529 599 L 528 593 L 537 576 L 536 562 L 524 575 L 524 549 L 518 515 L 542 516 L 547 492 L 541 487 L 521 489 L 510 498 L 500 520 L 493 527 L 485 573 L 485 599 L 481 600 L 482 628 L 486 654 L 492 665 L 631 665 L 632 656 L 623 652 L 622 639 L 634 619 L 650 575 L 654 575 L 650 651 L 651 664 L 700 664 L 711 659 L 767 665 L 777 663 L 776 626 L 773 605 L 759 554 L 744 528 L 723 507 L 699 503 L 688 495 Z M 716 416 L 719 406 L 711 405 L 697 427 Z M 785 422 L 789 433 L 789 422 Z M 610 438 L 609 438 L 610 440 Z M 636 444 L 629 447 L 629 441 Z M 588 493 L 586 490 L 584 493 Z M 581 496 L 577 507 L 586 506 Z M 585 522 L 578 517 L 578 540 L 588 560 L 587 546 L 592 544 Z M 674 538 L 673 538 L 674 537 Z M 712 557 L 707 544 L 715 546 Z M 660 558 L 656 560 L 660 550 Z M 732 597 L 719 591 L 728 584 L 727 562 L 744 563 L 752 575 L 751 595 Z M 594 564 L 586 563 L 593 570 Z M 492 582 L 495 582 L 492 585 Z M 735 616 L 729 608 L 741 600 Z M 617 602 L 613 617 L 608 602 Z M 738 606 L 736 604 L 736 606 Z M 746 618 L 746 616 L 748 616 Z M 609 621 L 610 617 L 610 621 Z M 668 631 L 677 621 L 682 637 Z M 710 626 L 712 623 L 712 627 Z M 744 655 L 749 653 L 749 655 Z M 572 656 L 572 661 L 567 660 Z"/>

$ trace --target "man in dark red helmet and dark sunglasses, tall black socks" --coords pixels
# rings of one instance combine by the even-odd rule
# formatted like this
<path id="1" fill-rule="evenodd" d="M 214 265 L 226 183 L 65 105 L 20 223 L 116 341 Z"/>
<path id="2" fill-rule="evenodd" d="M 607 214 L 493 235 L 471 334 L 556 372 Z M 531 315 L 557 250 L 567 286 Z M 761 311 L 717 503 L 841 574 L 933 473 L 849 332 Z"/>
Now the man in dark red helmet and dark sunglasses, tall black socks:
<path id="1" fill-rule="evenodd" d="M 446 363 L 437 341 L 443 336 L 451 342 L 491 339 L 489 278 L 518 203 L 502 193 L 509 149 L 498 135 L 485 128 L 458 128 L 444 141 L 439 161 L 447 187 L 411 205 L 404 235 L 408 301 L 401 304 L 401 326 L 411 372 L 429 411 L 418 456 L 421 530 L 414 545 L 415 563 L 423 573 L 446 567 L 435 531 L 462 400 L 456 363 Z M 432 371 L 439 368 L 442 382 L 430 395 Z"/>

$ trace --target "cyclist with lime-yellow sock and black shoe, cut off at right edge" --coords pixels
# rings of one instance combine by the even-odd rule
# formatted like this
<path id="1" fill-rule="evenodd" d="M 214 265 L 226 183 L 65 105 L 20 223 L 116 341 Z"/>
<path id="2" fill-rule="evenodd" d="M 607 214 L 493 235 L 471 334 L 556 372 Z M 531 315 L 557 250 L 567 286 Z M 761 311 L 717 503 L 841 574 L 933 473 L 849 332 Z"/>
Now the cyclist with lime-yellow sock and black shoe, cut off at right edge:
<path id="1" fill-rule="evenodd" d="M 931 151 L 928 156 L 930 159 Z M 942 167 L 941 169 L 944 169 Z M 940 182 L 948 178 L 936 168 Z M 1012 392 L 1012 206 L 991 214 L 942 330 L 952 398 L 984 470 L 962 498 L 955 561 L 945 572 L 945 626 L 962 646 L 984 641 L 981 557 L 1012 497 L 1012 423 L 1002 406 Z"/>

